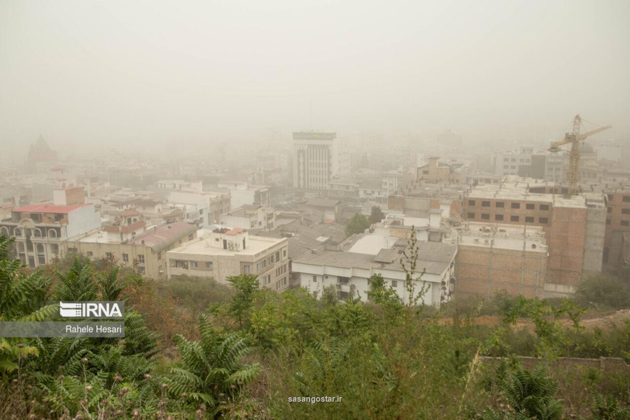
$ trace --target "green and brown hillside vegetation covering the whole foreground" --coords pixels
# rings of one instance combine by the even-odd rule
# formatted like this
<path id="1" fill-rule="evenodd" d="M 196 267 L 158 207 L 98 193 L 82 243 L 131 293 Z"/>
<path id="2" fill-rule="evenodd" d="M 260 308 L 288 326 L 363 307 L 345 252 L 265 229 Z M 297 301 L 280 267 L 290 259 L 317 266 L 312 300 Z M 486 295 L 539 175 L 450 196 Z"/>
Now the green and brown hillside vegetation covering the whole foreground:
<path id="1" fill-rule="evenodd" d="M 125 299 L 126 336 L 0 339 L 2 419 L 630 419 L 628 372 L 553 363 L 630 362 L 630 322 L 581 326 L 597 299 L 497 295 L 436 310 L 403 305 L 377 276 L 369 303 L 337 302 L 260 290 L 252 275 L 231 288 L 156 283 L 81 258 L 32 272 L 10 244 L 0 237 L 0 321 L 55 319 L 58 300 Z M 550 362 L 527 370 L 518 356 Z M 326 396 L 342 398 L 291 400 Z"/>

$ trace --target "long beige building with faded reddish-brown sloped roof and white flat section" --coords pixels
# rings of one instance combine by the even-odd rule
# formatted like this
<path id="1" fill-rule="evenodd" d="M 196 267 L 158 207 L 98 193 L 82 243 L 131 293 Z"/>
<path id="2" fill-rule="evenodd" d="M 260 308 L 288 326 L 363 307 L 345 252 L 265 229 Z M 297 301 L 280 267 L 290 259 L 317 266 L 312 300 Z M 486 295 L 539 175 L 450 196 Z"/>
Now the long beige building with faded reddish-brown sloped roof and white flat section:
<path id="1" fill-rule="evenodd" d="M 159 280 L 166 278 L 166 252 L 196 237 L 197 225 L 186 222 L 148 227 L 122 241 L 112 235 L 106 226 L 103 230 L 67 242 L 67 249 L 90 259 L 116 259 L 119 264 L 134 266 L 140 274 Z"/>

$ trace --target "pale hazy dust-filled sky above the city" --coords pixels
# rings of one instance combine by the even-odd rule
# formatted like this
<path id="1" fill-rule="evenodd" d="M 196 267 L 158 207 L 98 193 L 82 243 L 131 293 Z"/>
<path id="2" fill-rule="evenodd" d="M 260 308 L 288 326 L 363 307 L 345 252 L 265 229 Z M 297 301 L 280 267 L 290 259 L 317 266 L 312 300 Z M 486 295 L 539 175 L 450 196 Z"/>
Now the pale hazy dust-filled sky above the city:
<path id="1" fill-rule="evenodd" d="M 0 144 L 630 125 L 630 1 L 0 0 Z"/>

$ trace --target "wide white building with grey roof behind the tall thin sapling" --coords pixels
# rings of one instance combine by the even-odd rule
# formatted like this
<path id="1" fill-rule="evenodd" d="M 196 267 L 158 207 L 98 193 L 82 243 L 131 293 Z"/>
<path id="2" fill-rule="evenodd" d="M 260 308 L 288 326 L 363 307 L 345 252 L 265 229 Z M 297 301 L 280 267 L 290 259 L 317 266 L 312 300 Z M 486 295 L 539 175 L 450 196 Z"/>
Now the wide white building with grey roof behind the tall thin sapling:
<path id="1" fill-rule="evenodd" d="M 324 287 L 333 286 L 339 298 L 358 297 L 364 301 L 367 301 L 367 291 L 370 290 L 369 278 L 380 274 L 386 285 L 391 286 L 404 303 L 408 303 L 410 297 L 404 287 L 406 275 L 400 263 L 403 249 L 382 249 L 377 255 L 315 252 L 293 261 L 292 270 L 297 273 L 301 287 L 314 297 L 321 298 Z M 438 306 L 449 300 L 456 254 L 456 244 L 418 241 L 417 266 L 425 273 L 421 281 L 415 281 L 415 287 L 416 292 L 423 285 L 428 288 L 423 296 L 425 304 Z"/>

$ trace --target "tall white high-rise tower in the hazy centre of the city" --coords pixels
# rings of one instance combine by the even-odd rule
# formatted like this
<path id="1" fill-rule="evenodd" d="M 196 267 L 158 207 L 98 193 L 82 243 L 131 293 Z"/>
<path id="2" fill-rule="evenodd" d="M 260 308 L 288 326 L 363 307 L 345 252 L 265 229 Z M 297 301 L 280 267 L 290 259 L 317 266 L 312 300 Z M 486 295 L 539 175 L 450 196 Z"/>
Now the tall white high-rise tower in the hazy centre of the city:
<path id="1" fill-rule="evenodd" d="M 350 156 L 337 133 L 293 133 L 293 186 L 326 190 L 335 175 L 350 171 Z"/>

